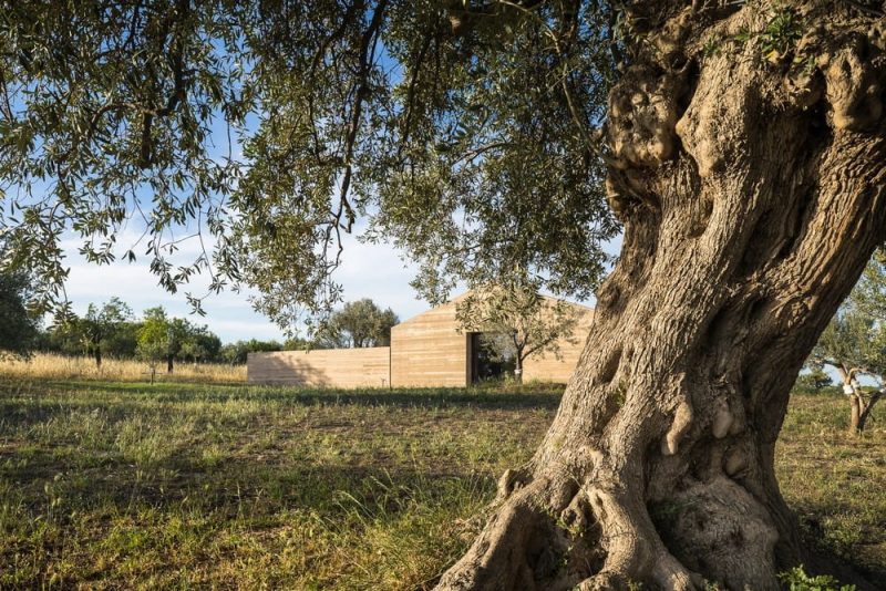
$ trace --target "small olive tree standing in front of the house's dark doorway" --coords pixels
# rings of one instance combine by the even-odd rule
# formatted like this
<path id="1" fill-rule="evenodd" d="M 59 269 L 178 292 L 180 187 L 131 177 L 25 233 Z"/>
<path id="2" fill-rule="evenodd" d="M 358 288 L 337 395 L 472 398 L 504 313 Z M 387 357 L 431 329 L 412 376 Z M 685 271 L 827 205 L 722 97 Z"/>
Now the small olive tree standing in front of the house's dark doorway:
<path id="1" fill-rule="evenodd" d="M 456 304 L 463 330 L 487 335 L 501 357 L 514 356 L 514 377 L 523 382 L 523 364 L 532 354 L 559 356 L 559 343 L 570 341 L 578 323 L 575 307 L 540 296 L 530 281 L 487 286 Z"/>

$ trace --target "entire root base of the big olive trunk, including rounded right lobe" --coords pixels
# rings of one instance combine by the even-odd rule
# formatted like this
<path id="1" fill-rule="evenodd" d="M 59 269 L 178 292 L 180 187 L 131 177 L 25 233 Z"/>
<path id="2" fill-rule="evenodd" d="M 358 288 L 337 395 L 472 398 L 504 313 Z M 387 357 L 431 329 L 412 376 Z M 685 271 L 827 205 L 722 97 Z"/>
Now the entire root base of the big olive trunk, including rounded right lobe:
<path id="1" fill-rule="evenodd" d="M 527 483 L 506 474 L 502 483 L 497 510 L 437 589 L 704 589 L 696 571 L 728 589 L 777 589 L 776 529 L 729 478 L 697 483 L 652 506 L 655 521 L 642 495 L 599 480 L 579 488 L 575 480 Z"/>

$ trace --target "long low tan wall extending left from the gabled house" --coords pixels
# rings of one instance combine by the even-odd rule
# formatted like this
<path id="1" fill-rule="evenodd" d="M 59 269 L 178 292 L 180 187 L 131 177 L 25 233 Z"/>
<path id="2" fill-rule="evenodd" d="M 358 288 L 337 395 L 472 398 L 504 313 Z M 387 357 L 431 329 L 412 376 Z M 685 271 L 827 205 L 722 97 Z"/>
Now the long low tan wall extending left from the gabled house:
<path id="1" fill-rule="evenodd" d="M 389 387 L 391 349 L 315 349 L 249 353 L 247 381 L 326 387 Z"/>

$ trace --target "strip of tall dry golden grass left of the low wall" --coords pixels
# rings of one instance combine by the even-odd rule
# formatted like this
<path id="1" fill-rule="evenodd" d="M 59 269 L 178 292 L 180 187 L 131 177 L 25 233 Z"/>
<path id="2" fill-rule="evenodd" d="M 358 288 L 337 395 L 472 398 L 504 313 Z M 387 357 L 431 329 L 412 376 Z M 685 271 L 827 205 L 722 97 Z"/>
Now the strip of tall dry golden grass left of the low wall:
<path id="1" fill-rule="evenodd" d="M 166 365 L 157 367 L 156 380 L 162 382 L 233 383 L 246 382 L 246 365 L 217 363 L 176 363 L 172 374 Z M 68 357 L 38 353 L 30 360 L 0 361 L 0 376 L 39 380 L 102 380 L 111 382 L 147 382 L 147 363 L 133 360 L 105 359 L 101 369 L 91 357 Z"/>

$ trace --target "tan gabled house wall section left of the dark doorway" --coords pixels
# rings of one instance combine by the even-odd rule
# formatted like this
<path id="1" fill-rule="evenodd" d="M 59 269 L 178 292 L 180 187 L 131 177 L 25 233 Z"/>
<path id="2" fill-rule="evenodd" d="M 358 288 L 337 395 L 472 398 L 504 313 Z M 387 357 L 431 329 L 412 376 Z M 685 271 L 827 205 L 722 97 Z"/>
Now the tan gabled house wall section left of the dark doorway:
<path id="1" fill-rule="evenodd" d="M 391 329 L 391 382 L 394 387 L 468 384 L 470 335 L 459 333 L 456 301 Z"/>

